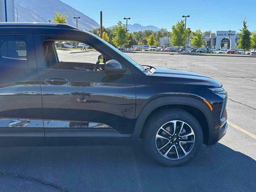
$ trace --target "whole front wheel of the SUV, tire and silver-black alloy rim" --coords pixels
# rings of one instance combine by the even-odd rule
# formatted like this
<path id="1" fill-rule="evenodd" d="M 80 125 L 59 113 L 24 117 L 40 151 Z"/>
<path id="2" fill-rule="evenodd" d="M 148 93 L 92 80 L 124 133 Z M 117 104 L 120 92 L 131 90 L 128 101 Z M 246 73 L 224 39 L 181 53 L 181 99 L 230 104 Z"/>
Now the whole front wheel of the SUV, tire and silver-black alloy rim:
<path id="1" fill-rule="evenodd" d="M 185 110 L 161 110 L 146 122 L 146 151 L 165 166 L 187 164 L 200 152 L 202 142 L 203 132 L 199 122 Z"/>

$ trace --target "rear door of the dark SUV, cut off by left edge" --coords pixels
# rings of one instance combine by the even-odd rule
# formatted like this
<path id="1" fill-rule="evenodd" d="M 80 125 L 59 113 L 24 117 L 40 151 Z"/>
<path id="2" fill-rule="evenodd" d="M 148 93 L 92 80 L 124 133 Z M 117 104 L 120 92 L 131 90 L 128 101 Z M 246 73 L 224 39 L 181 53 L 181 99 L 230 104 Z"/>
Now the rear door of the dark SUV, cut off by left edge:
<path id="1" fill-rule="evenodd" d="M 33 36 L 0 34 L 0 146 L 43 146 Z"/>

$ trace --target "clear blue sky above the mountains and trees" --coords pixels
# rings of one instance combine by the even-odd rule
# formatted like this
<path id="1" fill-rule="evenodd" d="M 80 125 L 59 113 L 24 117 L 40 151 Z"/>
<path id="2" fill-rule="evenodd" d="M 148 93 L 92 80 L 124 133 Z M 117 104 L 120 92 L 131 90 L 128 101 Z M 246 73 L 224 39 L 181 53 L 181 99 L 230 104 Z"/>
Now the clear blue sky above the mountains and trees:
<path id="1" fill-rule="evenodd" d="M 115 25 L 118 20 L 130 17 L 129 24 L 154 25 L 167 28 L 182 15 L 190 15 L 187 26 L 192 31 L 236 30 L 242 28 L 246 18 L 248 29 L 256 30 L 255 0 L 61 0 L 103 25 Z M 125 22 L 125 21 L 124 21 Z"/>

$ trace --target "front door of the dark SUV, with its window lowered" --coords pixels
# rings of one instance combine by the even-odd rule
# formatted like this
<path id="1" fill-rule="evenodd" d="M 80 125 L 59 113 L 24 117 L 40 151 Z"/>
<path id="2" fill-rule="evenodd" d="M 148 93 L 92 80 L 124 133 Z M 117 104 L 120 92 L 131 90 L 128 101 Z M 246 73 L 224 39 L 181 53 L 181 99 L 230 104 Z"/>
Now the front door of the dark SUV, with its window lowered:
<path id="1" fill-rule="evenodd" d="M 136 104 L 131 71 L 107 75 L 104 71 L 87 70 L 85 66 L 94 67 L 99 52 L 55 50 L 51 42 L 54 38 L 73 39 L 56 35 L 35 36 L 38 40 L 36 56 L 40 65 L 38 74 L 42 88 L 45 144 L 128 144 L 135 123 Z M 49 59 L 54 53 L 55 56 Z M 60 67 L 54 67 L 55 64 Z"/>

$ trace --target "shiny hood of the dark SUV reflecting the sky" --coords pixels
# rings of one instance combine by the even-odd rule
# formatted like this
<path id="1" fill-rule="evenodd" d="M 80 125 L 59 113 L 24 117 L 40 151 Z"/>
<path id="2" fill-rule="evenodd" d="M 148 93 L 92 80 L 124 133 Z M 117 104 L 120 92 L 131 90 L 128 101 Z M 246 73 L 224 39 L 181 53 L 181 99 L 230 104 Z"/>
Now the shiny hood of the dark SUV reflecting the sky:
<path id="1" fill-rule="evenodd" d="M 162 67 L 155 67 L 156 71 L 151 74 L 152 76 L 158 77 L 170 77 L 170 82 L 180 83 L 180 84 L 194 84 L 194 85 L 204 85 L 208 87 L 221 87 L 218 81 L 194 72 L 168 69 Z M 166 79 L 165 79 L 166 80 Z"/>

